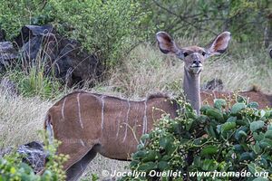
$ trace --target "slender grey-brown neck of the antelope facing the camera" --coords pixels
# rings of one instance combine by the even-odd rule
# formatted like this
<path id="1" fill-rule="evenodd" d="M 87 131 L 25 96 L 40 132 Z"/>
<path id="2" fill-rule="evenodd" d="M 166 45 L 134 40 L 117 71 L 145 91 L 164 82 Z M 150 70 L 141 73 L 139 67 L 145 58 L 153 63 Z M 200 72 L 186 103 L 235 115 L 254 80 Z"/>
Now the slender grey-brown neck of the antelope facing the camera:
<path id="1" fill-rule="evenodd" d="M 184 68 L 183 90 L 186 100 L 189 100 L 191 106 L 199 114 L 200 109 L 200 73 L 191 74 Z"/>

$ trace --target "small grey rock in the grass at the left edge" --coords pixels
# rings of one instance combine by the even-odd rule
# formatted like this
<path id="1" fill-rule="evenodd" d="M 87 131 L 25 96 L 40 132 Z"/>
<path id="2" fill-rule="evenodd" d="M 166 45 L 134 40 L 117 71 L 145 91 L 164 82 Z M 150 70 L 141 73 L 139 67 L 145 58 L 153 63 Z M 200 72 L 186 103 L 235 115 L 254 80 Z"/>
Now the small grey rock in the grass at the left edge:
<path id="1" fill-rule="evenodd" d="M 15 82 L 10 81 L 7 78 L 4 78 L 0 81 L 0 91 L 12 97 L 18 95 L 18 90 L 16 88 Z"/>

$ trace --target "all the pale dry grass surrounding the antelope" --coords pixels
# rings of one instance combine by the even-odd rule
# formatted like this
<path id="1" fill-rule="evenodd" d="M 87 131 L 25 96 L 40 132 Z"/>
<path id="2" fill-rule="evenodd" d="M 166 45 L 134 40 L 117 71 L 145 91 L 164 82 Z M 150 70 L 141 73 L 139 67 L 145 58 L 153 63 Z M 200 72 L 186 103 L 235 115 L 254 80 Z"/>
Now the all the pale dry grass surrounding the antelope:
<path id="1" fill-rule="evenodd" d="M 179 44 L 192 43 L 194 41 L 186 39 L 179 41 Z M 252 50 L 258 51 L 253 52 L 242 47 L 238 43 L 231 43 L 228 53 L 205 62 L 201 84 L 219 78 L 224 83 L 224 90 L 249 90 L 252 85 L 257 85 L 262 91 L 272 93 L 272 61 L 268 53 L 262 49 L 255 48 Z M 131 100 L 142 100 L 154 92 L 174 95 L 181 90 L 183 62 L 174 56 L 162 54 L 157 47 L 141 44 L 109 74 L 111 76 L 106 81 L 89 90 Z M 56 97 L 63 94 L 57 92 Z M 37 132 L 43 128 L 44 115 L 53 101 L 41 100 L 40 97 L 12 98 L 0 93 L 0 148 L 41 140 Z M 92 174 L 101 177 L 102 169 L 121 171 L 128 164 L 95 157 L 83 179 L 90 178 Z"/>

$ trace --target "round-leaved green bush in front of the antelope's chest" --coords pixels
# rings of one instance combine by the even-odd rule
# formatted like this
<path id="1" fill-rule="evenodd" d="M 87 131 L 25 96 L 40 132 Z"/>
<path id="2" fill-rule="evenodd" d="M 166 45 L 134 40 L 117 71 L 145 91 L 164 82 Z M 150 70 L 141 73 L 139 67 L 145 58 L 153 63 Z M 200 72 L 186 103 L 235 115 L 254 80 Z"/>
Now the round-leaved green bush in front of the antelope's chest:
<path id="1" fill-rule="evenodd" d="M 248 103 L 238 97 L 231 108 L 225 100 L 215 100 L 213 107 L 204 105 L 202 114 L 197 116 L 188 103 L 181 100 L 180 103 L 184 113 L 176 119 L 165 115 L 151 133 L 142 136 L 130 165 L 131 170 L 147 173 L 138 180 L 150 180 L 151 170 L 178 170 L 184 178 L 189 172 L 201 171 L 267 172 L 271 178 L 272 110 L 257 110 L 257 102 Z M 218 176 L 215 180 L 253 180 L 256 177 Z M 158 178 L 181 179 L 152 177 Z M 190 180 L 203 178 L 205 176 L 189 177 Z M 123 177 L 122 180 L 135 178 Z"/>

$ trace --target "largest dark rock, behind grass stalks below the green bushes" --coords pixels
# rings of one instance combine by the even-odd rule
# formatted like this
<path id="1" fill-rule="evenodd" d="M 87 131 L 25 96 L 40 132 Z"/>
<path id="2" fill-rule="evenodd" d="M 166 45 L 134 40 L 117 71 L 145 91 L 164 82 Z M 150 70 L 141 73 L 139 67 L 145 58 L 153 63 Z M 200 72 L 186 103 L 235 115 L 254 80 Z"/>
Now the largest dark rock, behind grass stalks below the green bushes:
<path id="1" fill-rule="evenodd" d="M 53 74 L 69 87 L 99 80 L 103 69 L 98 58 L 83 50 L 81 43 L 55 32 L 51 25 L 22 28 L 22 38 L 17 38 L 16 43 L 22 47 L 24 67 L 42 62 L 46 75 Z"/>

